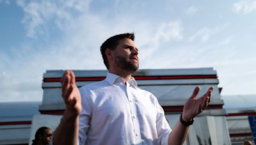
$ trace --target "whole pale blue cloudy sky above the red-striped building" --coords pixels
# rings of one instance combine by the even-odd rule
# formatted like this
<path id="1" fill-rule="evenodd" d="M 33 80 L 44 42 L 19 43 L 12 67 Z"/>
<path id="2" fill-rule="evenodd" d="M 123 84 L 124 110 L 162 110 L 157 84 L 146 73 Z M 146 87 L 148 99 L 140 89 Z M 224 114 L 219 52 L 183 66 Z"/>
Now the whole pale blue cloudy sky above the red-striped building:
<path id="1" fill-rule="evenodd" d="M 222 95 L 256 94 L 256 1 L 0 0 L 0 18 L 0 102 L 42 100 L 46 70 L 105 69 L 124 32 L 140 69 L 214 67 Z"/>

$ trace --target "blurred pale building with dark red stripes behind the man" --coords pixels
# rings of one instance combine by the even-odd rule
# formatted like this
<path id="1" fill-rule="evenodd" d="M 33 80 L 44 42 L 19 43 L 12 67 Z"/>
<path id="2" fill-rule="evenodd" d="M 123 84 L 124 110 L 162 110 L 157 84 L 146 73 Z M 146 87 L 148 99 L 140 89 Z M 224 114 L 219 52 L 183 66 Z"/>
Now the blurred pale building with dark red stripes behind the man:
<path id="1" fill-rule="evenodd" d="M 42 102 L 1 103 L 0 144 L 31 143 L 37 128 L 47 126 L 55 130 L 65 104 L 61 98 L 61 76 L 64 71 L 46 71 L 43 76 Z M 105 78 L 107 71 L 74 71 L 77 86 Z M 253 141 L 248 116 L 256 115 L 256 95 L 221 96 L 219 79 L 213 68 L 141 69 L 133 74 L 138 86 L 156 95 L 166 118 L 173 127 L 179 120 L 184 102 L 200 86 L 202 96 L 214 86 L 207 109 L 195 118 L 185 144 L 242 144 Z M 225 99 L 223 99 L 225 98 Z"/>

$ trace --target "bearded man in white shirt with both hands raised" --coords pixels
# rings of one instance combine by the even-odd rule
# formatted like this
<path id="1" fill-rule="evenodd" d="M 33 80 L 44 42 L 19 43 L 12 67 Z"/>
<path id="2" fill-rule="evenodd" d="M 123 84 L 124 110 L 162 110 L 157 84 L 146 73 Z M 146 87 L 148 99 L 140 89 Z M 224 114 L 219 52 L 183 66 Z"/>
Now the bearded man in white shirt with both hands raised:
<path id="1" fill-rule="evenodd" d="M 100 47 L 108 75 L 104 81 L 77 89 L 72 71 L 62 80 L 66 104 L 54 144 L 182 144 L 193 118 L 210 102 L 213 88 L 196 98 L 196 87 L 171 129 L 152 93 L 138 88 L 132 72 L 139 67 L 134 34 L 119 34 Z"/>

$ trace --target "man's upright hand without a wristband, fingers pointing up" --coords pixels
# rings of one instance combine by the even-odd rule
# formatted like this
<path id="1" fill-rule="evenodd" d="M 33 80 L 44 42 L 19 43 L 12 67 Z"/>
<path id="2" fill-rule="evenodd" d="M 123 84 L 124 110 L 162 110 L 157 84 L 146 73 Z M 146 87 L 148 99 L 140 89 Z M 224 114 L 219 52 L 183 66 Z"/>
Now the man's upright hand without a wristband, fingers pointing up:
<path id="1" fill-rule="evenodd" d="M 76 118 L 82 111 L 81 95 L 76 86 L 76 76 L 72 71 L 65 71 L 61 78 L 62 97 L 66 104 L 65 115 Z"/>

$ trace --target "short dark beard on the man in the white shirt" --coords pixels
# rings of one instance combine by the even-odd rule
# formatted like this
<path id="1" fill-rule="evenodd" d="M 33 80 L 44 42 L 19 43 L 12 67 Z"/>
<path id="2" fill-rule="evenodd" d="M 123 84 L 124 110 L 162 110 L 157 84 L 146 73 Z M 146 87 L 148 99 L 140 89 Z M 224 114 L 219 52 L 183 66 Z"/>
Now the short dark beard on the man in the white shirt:
<path id="1" fill-rule="evenodd" d="M 115 64 L 120 69 L 124 69 L 125 71 L 129 71 L 131 73 L 137 71 L 139 68 L 138 62 L 130 62 L 126 57 L 118 56 L 116 53 Z"/>

